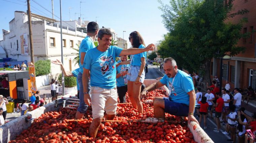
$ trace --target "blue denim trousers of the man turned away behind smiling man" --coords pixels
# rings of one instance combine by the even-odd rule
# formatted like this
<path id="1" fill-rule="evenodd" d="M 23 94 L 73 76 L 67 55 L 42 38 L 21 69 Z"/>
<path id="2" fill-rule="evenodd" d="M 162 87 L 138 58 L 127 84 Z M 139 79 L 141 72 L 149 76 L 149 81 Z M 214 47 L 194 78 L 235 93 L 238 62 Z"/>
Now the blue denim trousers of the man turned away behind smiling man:
<path id="1" fill-rule="evenodd" d="M 88 105 L 84 101 L 84 87 L 83 87 L 83 76 L 82 73 L 78 73 L 77 80 L 79 84 L 79 106 L 77 108 L 77 111 L 80 113 L 86 113 Z M 88 80 L 88 92 L 91 89 L 90 80 Z M 90 94 L 90 93 L 89 93 Z"/>

